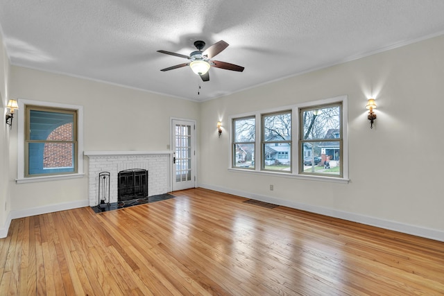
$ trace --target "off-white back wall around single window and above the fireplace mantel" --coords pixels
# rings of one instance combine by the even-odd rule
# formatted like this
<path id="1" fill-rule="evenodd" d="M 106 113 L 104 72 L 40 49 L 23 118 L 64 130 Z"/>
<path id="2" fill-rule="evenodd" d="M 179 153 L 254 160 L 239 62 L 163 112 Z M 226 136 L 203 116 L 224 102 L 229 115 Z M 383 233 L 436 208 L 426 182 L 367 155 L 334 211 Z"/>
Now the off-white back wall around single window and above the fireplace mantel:
<path id="1" fill-rule="evenodd" d="M 195 102 L 24 67 L 11 67 L 9 96 L 83 105 L 88 151 L 168 150 L 171 117 L 199 120 Z M 58 204 L 66 208 L 88 204 L 87 157 L 83 178 L 16 184 L 17 123 L 10 142 L 12 218 L 57 209 Z"/>

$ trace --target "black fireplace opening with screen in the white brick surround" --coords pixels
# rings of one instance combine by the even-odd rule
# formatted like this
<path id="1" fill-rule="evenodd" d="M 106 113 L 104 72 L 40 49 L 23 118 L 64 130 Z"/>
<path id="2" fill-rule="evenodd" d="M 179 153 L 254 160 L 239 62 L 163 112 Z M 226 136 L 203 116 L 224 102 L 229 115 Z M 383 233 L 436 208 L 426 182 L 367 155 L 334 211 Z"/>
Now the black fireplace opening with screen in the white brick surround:
<path id="1" fill-rule="evenodd" d="M 117 201 L 134 200 L 148 196 L 148 171 L 131 168 L 117 175 Z"/>

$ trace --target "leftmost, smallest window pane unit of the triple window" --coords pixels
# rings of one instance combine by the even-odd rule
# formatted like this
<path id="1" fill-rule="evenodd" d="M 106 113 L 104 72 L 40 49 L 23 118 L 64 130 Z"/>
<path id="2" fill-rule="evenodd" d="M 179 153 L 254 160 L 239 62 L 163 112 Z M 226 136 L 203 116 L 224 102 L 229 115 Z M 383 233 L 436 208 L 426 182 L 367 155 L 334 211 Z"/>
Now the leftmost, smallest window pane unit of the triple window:
<path id="1" fill-rule="evenodd" d="M 232 167 L 255 168 L 255 117 L 232 120 Z"/>

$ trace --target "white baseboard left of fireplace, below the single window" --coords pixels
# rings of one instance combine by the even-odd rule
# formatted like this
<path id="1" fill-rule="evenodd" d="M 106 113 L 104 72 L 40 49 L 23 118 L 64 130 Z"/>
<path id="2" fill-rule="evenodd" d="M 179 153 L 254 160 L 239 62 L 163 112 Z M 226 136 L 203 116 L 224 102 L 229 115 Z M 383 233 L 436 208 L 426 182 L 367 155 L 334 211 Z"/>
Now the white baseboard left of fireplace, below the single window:
<path id="1" fill-rule="evenodd" d="M 32 209 L 21 209 L 18 211 L 10 211 L 8 218 L 6 218 L 5 225 L 0 228 L 0 238 L 8 236 L 9 226 L 12 219 L 35 216 L 46 213 L 53 213 L 55 211 L 65 211 L 67 209 L 76 209 L 78 207 L 89 207 L 88 200 L 76 200 L 75 202 L 63 202 L 61 204 L 51 204 L 44 207 L 35 207 Z"/>

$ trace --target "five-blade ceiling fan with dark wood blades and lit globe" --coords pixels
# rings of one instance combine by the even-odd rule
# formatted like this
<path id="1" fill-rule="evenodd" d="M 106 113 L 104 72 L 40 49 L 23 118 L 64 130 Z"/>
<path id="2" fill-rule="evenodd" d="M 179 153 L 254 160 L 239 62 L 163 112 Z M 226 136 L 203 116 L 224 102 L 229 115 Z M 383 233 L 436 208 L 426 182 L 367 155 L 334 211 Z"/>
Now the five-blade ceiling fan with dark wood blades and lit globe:
<path id="1" fill-rule="evenodd" d="M 171 51 L 157 51 L 158 53 L 165 53 L 167 55 L 175 55 L 179 58 L 186 58 L 190 62 L 185 62 L 183 64 L 176 64 L 176 66 L 171 66 L 160 71 L 169 71 L 173 69 L 178 69 L 181 67 L 189 66 L 191 70 L 194 71 L 203 81 L 210 80 L 210 75 L 208 71 L 210 67 L 216 67 L 231 71 L 244 71 L 244 67 L 238 66 L 237 64 L 230 64 L 229 62 L 220 62 L 218 60 L 211 60 L 216 55 L 221 53 L 224 49 L 228 47 L 228 43 L 221 40 L 214 43 L 212 46 L 208 47 L 205 51 L 202 49 L 205 47 L 205 42 L 197 40 L 194 42 L 197 51 L 193 51 L 189 55 L 182 55 L 180 53 L 172 53 Z"/>

